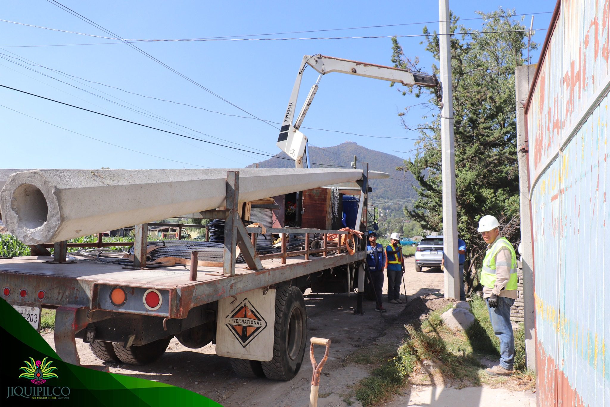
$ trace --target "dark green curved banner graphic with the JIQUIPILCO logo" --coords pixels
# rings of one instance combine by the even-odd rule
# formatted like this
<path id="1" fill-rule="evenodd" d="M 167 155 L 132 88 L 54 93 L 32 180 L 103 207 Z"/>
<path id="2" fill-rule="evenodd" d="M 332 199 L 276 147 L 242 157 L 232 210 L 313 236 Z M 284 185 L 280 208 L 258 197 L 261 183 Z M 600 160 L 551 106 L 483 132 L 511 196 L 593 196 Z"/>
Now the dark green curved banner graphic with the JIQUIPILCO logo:
<path id="1" fill-rule="evenodd" d="M 0 406 L 221 406 L 170 384 L 65 363 L 0 298 Z"/>

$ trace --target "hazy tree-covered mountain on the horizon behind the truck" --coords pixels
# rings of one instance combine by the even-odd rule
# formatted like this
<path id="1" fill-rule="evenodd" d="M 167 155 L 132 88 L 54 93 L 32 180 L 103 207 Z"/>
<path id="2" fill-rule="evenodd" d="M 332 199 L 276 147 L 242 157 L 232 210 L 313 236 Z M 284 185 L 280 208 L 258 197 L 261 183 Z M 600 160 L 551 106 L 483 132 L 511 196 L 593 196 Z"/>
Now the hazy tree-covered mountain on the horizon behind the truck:
<path id="1" fill-rule="evenodd" d="M 369 171 L 382 171 L 389 173 L 389 179 L 371 179 L 369 185 L 373 187 L 373 192 L 369 194 L 369 200 L 382 209 L 402 215 L 402 208 L 409 198 L 417 197 L 412 185 L 417 182 L 411 173 L 397 171 L 396 167 L 404 164 L 403 159 L 392 154 L 383 153 L 360 146 L 354 142 L 345 142 L 331 147 L 309 146 L 309 162 L 312 168 L 327 168 L 329 165 L 351 167 L 354 156 L 357 157 L 356 168 L 362 168 L 363 162 L 368 162 Z M 279 158 L 284 157 L 284 159 Z M 257 163 L 259 168 L 294 168 L 295 162 L 283 151 L 275 157 Z M 320 165 L 323 164 L 323 165 Z M 256 165 L 248 165 L 246 168 L 253 168 Z M 384 201 L 393 201 L 385 203 Z M 400 201 L 400 202 L 396 202 Z M 378 205 L 379 204 L 379 205 Z"/>

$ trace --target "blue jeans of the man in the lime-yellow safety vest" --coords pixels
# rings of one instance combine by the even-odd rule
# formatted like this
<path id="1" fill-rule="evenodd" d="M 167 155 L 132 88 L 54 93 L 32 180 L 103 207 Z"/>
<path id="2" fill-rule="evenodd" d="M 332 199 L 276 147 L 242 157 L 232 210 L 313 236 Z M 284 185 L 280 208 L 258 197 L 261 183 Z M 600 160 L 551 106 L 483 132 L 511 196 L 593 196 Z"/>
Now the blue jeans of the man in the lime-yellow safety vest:
<path id="1" fill-rule="evenodd" d="M 500 339 L 500 366 L 512 370 L 515 362 L 515 337 L 512 334 L 511 306 L 515 300 L 507 297 L 498 297 L 497 308 L 490 308 L 489 299 L 485 298 L 489 320 L 493 326 L 493 333 Z"/>

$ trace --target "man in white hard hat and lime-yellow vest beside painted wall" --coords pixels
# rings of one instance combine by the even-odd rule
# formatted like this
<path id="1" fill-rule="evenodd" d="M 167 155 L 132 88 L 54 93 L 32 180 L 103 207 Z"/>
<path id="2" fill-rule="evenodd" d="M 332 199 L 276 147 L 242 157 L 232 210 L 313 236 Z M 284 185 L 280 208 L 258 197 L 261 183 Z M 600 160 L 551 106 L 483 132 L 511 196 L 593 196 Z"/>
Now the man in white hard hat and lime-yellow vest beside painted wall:
<path id="1" fill-rule="evenodd" d="M 492 215 L 479 220 L 487 251 L 481 270 L 483 298 L 487 303 L 493 332 L 500 339 L 500 364 L 486 372 L 494 376 L 512 374 L 515 361 L 515 337 L 512 333 L 511 306 L 517 298 L 517 256 L 511 242 L 500 236 L 500 224 Z"/>

